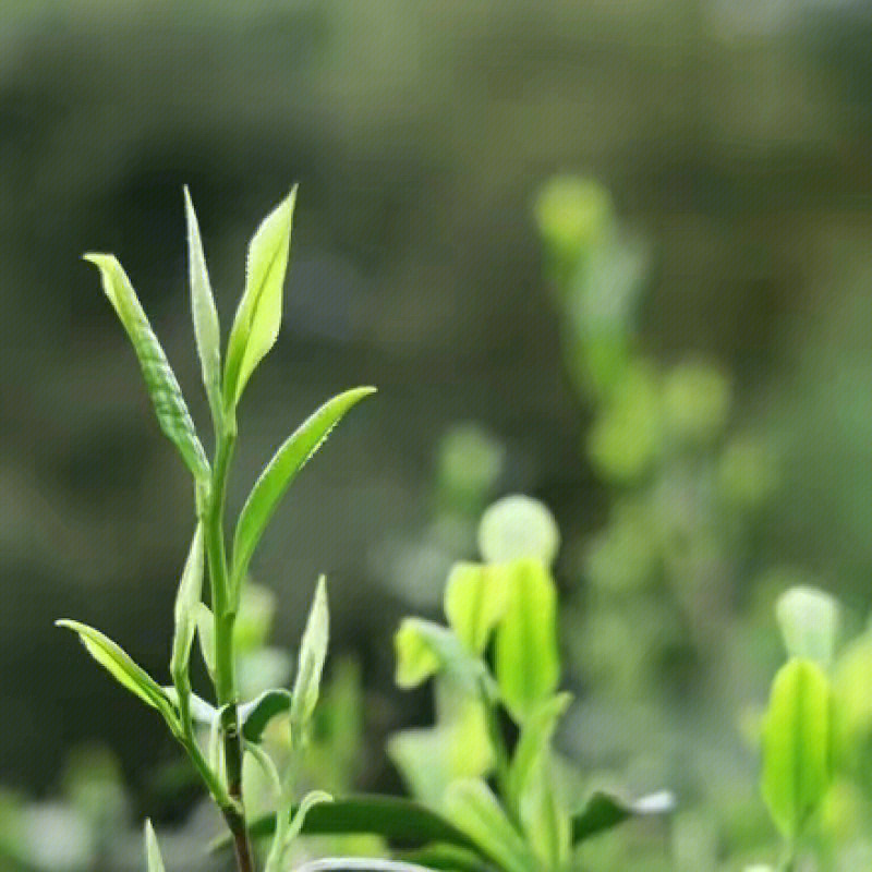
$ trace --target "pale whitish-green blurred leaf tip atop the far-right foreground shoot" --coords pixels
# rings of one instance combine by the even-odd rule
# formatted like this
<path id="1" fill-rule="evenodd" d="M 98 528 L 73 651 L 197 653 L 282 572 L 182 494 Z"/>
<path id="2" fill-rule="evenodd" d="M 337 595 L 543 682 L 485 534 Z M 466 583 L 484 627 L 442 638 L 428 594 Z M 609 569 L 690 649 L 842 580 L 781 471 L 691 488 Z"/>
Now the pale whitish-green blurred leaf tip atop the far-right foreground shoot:
<path id="1" fill-rule="evenodd" d="M 824 669 L 833 663 L 839 631 L 839 605 L 816 588 L 791 588 L 778 597 L 775 616 L 790 657 L 807 657 Z"/>

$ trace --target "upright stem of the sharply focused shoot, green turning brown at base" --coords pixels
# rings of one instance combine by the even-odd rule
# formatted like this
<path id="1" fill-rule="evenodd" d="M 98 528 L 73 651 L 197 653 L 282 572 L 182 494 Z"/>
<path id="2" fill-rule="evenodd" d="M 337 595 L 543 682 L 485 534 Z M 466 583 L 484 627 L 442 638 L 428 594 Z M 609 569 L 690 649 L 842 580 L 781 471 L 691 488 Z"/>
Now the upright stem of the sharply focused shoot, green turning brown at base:
<path id="1" fill-rule="evenodd" d="M 225 544 L 227 475 L 235 441 L 235 417 L 232 412 L 228 412 L 218 432 L 211 493 L 205 519 L 205 534 L 211 604 L 215 615 L 215 690 L 218 704 L 221 706 L 227 791 L 230 798 L 230 804 L 222 811 L 233 835 L 239 872 L 254 872 L 254 860 L 242 802 L 242 741 L 239 731 L 239 700 L 237 699 L 237 669 L 233 652 L 237 605 L 229 585 L 227 546 Z"/>

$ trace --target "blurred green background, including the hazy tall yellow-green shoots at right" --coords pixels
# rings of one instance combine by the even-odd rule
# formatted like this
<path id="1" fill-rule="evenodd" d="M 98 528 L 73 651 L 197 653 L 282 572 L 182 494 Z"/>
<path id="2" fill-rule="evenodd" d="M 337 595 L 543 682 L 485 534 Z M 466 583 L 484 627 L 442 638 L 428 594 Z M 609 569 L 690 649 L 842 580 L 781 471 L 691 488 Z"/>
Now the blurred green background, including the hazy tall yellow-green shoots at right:
<path id="1" fill-rule="evenodd" d="M 160 674 L 190 534 L 185 477 L 78 256 L 119 255 L 205 423 L 182 184 L 227 324 L 258 216 L 299 181 L 286 338 L 246 393 L 230 498 L 318 401 L 379 386 L 253 567 L 274 670 L 330 579 L 339 695 L 362 702 L 340 705 L 359 759 L 329 777 L 399 787 L 384 739 L 432 713 L 392 689 L 390 635 L 438 609 L 488 501 L 524 492 L 564 540 L 565 749 L 682 797 L 673 859 L 652 869 L 768 838 L 753 737 L 780 657 L 774 597 L 809 579 L 872 605 L 869 5 L 0 10 L 10 796 L 74 799 L 62 773 L 86 772 L 126 797 L 92 811 L 186 814 L 149 714 L 51 628 L 76 615 Z M 70 832 L 93 849 L 94 827 Z M 649 868 L 635 847 L 609 836 L 591 863 Z"/>

